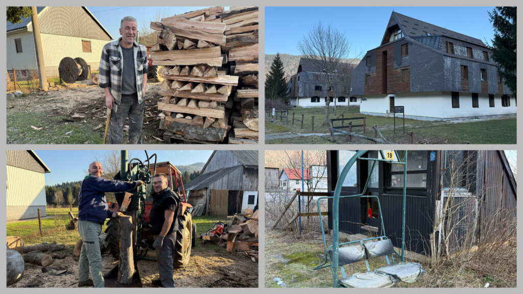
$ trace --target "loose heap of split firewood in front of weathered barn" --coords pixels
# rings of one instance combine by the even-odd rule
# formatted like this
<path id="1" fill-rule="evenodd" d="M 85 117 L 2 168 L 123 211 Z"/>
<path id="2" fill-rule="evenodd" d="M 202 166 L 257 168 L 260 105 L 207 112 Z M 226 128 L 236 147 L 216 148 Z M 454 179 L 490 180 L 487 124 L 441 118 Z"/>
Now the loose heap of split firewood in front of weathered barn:
<path id="1" fill-rule="evenodd" d="M 213 241 L 226 248 L 228 252 L 237 252 L 253 261 L 258 260 L 258 210 L 254 213 L 234 214 L 232 221 L 224 226 L 223 232 L 209 230 L 198 239 Z"/>

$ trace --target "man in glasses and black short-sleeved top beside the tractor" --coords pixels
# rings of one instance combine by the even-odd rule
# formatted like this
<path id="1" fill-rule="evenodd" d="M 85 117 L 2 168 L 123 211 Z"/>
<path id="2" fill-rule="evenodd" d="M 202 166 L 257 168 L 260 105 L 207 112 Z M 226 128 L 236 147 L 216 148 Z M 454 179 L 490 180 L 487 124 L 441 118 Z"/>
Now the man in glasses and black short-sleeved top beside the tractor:
<path id="1" fill-rule="evenodd" d="M 178 231 L 178 205 L 180 198 L 168 187 L 166 174 L 157 174 L 153 178 L 154 193 L 151 209 L 151 228 L 158 235 L 153 247 L 156 250 L 156 261 L 160 272 L 160 281 L 164 288 L 174 288 L 173 257 Z"/>

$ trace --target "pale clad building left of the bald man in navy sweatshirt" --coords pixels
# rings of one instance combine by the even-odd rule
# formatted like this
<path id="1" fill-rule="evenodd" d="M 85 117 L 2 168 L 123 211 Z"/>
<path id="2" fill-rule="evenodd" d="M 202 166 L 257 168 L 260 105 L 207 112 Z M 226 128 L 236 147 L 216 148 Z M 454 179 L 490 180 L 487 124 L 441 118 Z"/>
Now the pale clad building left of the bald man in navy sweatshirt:
<path id="1" fill-rule="evenodd" d="M 31 150 L 7 151 L 7 220 L 46 216 L 46 180 L 50 173 Z"/>

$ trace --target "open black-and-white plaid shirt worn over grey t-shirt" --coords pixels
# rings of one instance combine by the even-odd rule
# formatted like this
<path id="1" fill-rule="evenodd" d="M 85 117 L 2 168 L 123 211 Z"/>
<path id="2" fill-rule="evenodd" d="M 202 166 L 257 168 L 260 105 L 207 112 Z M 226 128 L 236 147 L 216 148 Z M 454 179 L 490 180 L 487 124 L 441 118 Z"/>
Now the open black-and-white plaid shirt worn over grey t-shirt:
<path id="1" fill-rule="evenodd" d="M 121 39 L 120 37 L 116 41 L 105 44 L 104 49 L 101 51 L 100 67 L 98 69 L 100 87 L 110 87 L 109 90 L 117 105 L 120 104 L 122 97 L 123 54 L 120 45 Z M 134 41 L 133 52 L 138 103 L 142 103 L 144 98 L 143 74 L 147 73 L 147 50 L 145 46 Z"/>

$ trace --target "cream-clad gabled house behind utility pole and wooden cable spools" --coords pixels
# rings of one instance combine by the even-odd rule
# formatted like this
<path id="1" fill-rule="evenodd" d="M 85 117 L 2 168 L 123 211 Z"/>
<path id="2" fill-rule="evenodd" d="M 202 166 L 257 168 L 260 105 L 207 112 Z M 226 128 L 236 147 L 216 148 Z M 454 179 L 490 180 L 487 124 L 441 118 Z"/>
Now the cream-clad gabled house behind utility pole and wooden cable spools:
<path id="1" fill-rule="evenodd" d="M 112 40 L 109 32 L 89 9 L 83 6 L 37 7 L 43 59 L 48 77 L 58 76 L 58 66 L 65 57 L 82 58 L 92 71 L 98 70 L 101 50 Z M 120 21 L 115 19 L 115 21 Z M 35 39 L 31 17 L 18 24 L 7 21 L 7 70 L 13 69 L 24 79 L 37 70 Z"/>

